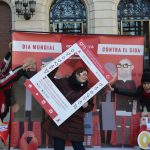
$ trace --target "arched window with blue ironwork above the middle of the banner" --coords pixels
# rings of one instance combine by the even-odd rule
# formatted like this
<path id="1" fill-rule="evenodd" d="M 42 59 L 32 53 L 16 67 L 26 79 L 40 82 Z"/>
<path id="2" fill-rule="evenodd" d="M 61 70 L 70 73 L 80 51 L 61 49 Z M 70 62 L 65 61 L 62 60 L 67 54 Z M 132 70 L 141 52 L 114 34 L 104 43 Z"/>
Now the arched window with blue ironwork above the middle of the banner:
<path id="1" fill-rule="evenodd" d="M 85 33 L 86 9 L 81 0 L 56 0 L 50 9 L 50 31 Z"/>

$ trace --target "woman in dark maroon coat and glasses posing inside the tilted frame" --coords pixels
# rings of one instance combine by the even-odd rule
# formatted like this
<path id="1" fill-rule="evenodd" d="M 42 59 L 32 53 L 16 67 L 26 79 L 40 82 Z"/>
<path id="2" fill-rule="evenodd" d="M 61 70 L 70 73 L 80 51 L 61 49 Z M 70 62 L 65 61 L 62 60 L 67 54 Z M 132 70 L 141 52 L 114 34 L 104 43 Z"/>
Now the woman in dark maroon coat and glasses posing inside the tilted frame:
<path id="1" fill-rule="evenodd" d="M 54 76 L 50 78 L 71 104 L 88 90 L 88 70 L 86 68 L 76 69 L 67 78 L 56 79 Z M 90 99 L 60 126 L 57 126 L 50 117 L 46 119 L 44 128 L 48 136 L 54 139 L 54 150 L 64 150 L 67 140 L 72 143 L 74 150 L 85 150 L 83 146 L 84 113 L 92 111 L 93 107 L 93 100 Z"/>

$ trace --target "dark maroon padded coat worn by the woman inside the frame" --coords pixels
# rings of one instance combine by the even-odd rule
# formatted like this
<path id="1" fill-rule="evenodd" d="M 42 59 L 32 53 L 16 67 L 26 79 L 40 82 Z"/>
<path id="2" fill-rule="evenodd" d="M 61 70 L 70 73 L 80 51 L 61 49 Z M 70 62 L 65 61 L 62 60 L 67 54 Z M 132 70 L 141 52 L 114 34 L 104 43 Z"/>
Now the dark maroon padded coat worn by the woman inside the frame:
<path id="1" fill-rule="evenodd" d="M 81 97 L 82 93 L 87 91 L 86 86 L 81 87 L 81 84 L 74 82 L 72 77 L 53 79 L 53 81 L 71 104 Z M 84 141 L 84 113 L 91 111 L 94 107 L 93 100 L 89 100 L 88 103 L 88 107 L 81 107 L 60 126 L 57 126 L 54 121 L 48 117 L 44 124 L 48 135 L 63 140 Z"/>

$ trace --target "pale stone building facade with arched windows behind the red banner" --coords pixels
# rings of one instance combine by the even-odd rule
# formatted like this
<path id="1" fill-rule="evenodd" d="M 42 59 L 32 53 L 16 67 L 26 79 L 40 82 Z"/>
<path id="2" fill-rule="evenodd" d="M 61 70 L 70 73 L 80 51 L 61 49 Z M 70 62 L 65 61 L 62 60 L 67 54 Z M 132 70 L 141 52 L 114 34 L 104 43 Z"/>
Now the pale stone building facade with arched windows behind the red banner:
<path id="1" fill-rule="evenodd" d="M 18 1 L 27 2 L 27 0 L 0 0 L 1 58 L 9 49 L 8 43 L 11 41 L 13 30 L 143 35 L 146 39 L 144 65 L 150 66 L 149 0 L 35 0 L 34 15 L 28 20 L 24 15 L 16 13 Z M 26 8 L 29 8 L 29 3 Z M 24 9 L 25 7 L 22 7 L 23 13 Z"/>

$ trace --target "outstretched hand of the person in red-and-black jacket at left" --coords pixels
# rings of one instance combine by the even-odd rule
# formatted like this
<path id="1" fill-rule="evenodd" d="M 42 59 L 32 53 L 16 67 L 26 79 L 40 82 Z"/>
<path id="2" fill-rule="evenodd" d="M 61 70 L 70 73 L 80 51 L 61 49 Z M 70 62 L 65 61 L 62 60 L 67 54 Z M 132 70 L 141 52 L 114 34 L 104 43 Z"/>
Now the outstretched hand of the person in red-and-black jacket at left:
<path id="1" fill-rule="evenodd" d="M 23 70 L 36 71 L 36 61 L 34 58 L 26 58 L 22 66 Z"/>

